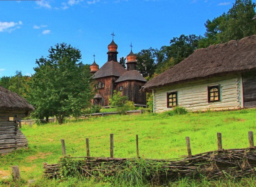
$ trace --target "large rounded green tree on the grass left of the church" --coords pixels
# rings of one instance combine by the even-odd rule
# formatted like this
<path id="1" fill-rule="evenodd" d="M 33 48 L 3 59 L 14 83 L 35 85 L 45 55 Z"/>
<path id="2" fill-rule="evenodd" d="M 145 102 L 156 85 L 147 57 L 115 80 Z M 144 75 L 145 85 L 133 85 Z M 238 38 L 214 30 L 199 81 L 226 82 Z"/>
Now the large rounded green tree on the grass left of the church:
<path id="1" fill-rule="evenodd" d="M 93 91 L 90 71 L 78 49 L 66 43 L 51 47 L 47 58 L 36 59 L 37 67 L 30 83 L 29 101 L 35 106 L 34 117 L 77 116 L 90 105 Z"/>

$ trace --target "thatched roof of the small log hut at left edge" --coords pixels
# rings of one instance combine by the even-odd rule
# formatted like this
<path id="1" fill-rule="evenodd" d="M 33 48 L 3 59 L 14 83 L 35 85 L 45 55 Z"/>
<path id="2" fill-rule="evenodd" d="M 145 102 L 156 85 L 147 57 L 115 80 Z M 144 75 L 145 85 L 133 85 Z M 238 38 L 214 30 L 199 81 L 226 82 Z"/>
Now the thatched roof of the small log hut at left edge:
<path id="1" fill-rule="evenodd" d="M 26 99 L 0 86 L 0 111 L 34 111 Z"/>

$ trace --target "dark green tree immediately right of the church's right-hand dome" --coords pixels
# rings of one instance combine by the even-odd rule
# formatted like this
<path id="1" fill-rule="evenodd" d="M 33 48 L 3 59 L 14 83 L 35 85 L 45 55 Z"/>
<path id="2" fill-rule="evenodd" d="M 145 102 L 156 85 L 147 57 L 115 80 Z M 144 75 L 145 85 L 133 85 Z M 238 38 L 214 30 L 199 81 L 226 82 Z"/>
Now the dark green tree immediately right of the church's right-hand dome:
<path id="1" fill-rule="evenodd" d="M 143 49 L 136 54 L 137 70 L 143 75 L 143 77 L 151 77 L 155 73 L 157 52 L 157 49 L 150 47 L 149 49 Z"/>

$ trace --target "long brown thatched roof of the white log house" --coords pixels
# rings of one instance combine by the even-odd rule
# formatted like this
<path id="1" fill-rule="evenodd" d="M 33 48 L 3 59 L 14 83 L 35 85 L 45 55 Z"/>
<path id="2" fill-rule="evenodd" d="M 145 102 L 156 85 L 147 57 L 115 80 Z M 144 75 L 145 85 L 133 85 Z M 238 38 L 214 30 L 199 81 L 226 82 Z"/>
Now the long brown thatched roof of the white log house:
<path id="1" fill-rule="evenodd" d="M 256 70 L 256 35 L 197 49 L 188 58 L 147 82 L 143 91 L 227 73 Z"/>

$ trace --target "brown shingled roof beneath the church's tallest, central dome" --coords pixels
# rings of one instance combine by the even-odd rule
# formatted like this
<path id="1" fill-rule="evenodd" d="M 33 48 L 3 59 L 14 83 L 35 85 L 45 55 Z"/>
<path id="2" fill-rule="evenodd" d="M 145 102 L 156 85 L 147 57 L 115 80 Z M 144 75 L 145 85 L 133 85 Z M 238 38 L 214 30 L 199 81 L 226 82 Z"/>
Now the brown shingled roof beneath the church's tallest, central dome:
<path id="1" fill-rule="evenodd" d="M 106 62 L 93 76 L 94 79 L 107 77 L 107 76 L 117 76 L 120 77 L 126 72 L 124 67 L 115 61 Z"/>

